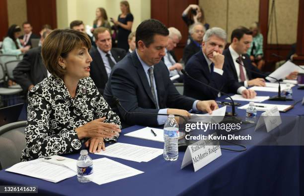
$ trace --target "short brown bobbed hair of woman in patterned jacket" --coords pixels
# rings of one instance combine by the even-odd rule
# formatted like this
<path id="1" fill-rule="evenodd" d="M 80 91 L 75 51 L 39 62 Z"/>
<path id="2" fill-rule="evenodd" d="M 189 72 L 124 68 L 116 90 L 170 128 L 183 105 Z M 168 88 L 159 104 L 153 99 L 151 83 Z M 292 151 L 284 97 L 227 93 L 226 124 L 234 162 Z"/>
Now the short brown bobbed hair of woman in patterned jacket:
<path id="1" fill-rule="evenodd" d="M 74 29 L 54 30 L 43 42 L 41 49 L 43 63 L 51 74 L 63 78 L 66 69 L 59 65 L 59 57 L 66 58 L 70 51 L 82 46 L 88 50 L 91 48 L 91 41 L 85 33 Z"/>

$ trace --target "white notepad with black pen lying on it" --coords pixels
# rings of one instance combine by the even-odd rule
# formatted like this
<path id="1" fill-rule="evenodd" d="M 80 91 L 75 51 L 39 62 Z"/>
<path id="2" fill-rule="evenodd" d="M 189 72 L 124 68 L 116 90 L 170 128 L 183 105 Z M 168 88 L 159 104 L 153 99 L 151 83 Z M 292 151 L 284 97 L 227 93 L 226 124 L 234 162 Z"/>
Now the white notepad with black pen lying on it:
<path id="1" fill-rule="evenodd" d="M 151 130 L 154 131 L 156 136 L 153 135 Z M 130 133 L 125 134 L 124 136 L 139 138 L 144 140 L 151 140 L 155 142 L 164 142 L 163 141 L 163 129 L 156 129 L 151 127 L 145 127 L 143 129 L 139 129 Z"/>

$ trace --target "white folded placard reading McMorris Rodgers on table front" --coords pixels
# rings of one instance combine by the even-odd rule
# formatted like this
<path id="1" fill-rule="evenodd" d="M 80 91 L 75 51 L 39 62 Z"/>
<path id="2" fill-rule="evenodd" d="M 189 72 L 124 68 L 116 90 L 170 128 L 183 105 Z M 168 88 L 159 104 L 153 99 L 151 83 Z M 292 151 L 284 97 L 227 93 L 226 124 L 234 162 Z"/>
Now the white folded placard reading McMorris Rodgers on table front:
<path id="1" fill-rule="evenodd" d="M 217 136 L 216 133 L 213 136 Z M 222 155 L 218 140 L 200 140 L 187 147 L 181 169 L 193 163 L 194 171 L 201 169 Z"/>

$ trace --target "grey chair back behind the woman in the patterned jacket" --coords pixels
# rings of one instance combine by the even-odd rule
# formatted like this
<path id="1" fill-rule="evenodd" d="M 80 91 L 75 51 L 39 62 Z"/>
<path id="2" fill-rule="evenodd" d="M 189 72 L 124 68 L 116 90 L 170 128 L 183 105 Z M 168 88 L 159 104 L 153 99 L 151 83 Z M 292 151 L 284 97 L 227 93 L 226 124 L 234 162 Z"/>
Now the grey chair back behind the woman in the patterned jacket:
<path id="1" fill-rule="evenodd" d="M 21 151 L 26 146 L 25 126 L 26 121 L 19 121 L 0 127 L 0 169 L 20 162 Z"/>

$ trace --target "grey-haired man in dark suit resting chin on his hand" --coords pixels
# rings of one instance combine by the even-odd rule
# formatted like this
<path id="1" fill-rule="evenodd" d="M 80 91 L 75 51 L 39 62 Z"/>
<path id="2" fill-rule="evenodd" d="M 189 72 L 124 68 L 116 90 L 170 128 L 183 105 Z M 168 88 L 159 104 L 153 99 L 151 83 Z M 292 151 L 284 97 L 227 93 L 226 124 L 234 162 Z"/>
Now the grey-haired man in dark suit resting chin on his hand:
<path id="1" fill-rule="evenodd" d="M 194 54 L 186 65 L 188 74 L 225 93 L 238 93 L 244 98 L 254 98 L 256 93 L 247 90 L 238 82 L 234 81 L 230 73 L 224 66 L 224 55 L 222 55 L 226 45 L 227 34 L 218 27 L 208 29 L 204 35 L 202 50 Z M 219 92 L 215 91 L 199 82 L 184 77 L 184 95 L 197 99 L 215 99 Z"/>

